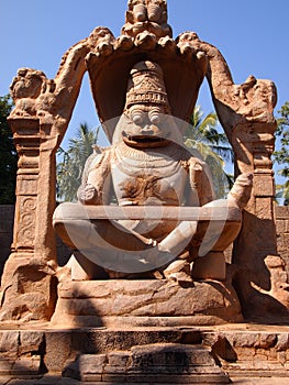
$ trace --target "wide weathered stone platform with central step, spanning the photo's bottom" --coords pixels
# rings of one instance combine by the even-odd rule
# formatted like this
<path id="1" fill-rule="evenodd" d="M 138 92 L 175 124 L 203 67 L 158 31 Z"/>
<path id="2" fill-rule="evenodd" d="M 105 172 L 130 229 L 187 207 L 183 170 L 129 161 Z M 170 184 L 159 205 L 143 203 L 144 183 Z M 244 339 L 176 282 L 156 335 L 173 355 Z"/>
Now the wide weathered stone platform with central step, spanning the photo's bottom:
<path id="1" fill-rule="evenodd" d="M 256 377 L 270 385 L 278 377 L 281 385 L 289 377 L 288 326 L 59 329 L 30 322 L 0 330 L 0 351 L 1 385 L 257 384 Z"/>

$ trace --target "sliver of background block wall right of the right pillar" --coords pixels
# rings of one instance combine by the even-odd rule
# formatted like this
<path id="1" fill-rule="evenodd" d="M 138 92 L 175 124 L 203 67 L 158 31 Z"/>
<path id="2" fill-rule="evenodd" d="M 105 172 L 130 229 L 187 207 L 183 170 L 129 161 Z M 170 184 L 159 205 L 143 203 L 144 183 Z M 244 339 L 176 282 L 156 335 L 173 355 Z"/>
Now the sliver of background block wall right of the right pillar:
<path id="1" fill-rule="evenodd" d="M 289 207 L 276 206 L 275 215 L 278 254 L 284 258 L 289 276 Z"/>

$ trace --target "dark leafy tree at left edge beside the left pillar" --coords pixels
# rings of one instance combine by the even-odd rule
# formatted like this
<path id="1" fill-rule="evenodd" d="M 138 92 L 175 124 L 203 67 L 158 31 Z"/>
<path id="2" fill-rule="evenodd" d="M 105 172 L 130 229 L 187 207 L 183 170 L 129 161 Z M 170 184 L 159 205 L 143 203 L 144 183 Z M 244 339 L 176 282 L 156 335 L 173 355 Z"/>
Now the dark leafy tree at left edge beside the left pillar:
<path id="1" fill-rule="evenodd" d="M 12 108 L 9 95 L 0 97 L 0 205 L 15 202 L 18 154 L 7 121 Z"/>

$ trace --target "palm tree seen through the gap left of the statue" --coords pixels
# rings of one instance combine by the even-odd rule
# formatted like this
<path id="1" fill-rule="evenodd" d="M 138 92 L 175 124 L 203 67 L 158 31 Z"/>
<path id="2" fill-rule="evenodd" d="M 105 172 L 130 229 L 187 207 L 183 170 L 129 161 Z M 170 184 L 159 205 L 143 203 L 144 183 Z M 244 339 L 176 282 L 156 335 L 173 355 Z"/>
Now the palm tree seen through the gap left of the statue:
<path id="1" fill-rule="evenodd" d="M 77 190 L 81 184 L 82 169 L 93 145 L 98 140 L 99 128 L 89 129 L 87 123 L 80 124 L 76 138 L 69 140 L 68 150 L 59 147 L 57 164 L 57 198 L 66 201 L 77 200 Z"/>

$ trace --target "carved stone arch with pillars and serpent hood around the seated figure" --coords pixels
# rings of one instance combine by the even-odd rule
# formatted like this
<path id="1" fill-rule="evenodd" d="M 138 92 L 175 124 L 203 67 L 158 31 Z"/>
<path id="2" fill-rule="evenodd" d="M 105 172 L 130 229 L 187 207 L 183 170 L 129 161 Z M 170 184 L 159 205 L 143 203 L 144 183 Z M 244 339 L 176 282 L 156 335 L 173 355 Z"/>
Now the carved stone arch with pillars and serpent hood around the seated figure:
<path id="1" fill-rule="evenodd" d="M 138 1 L 130 3 L 134 6 Z M 120 116 L 130 68 L 143 59 L 162 66 L 173 114 L 182 120 L 189 120 L 207 76 L 220 122 L 236 153 L 238 170 L 254 174 L 253 194 L 236 241 L 234 262 L 240 267 L 236 282 L 246 316 L 256 316 L 260 309 L 263 298 L 251 283 L 268 287 L 264 261 L 276 254 L 270 161 L 276 129 L 275 86 L 254 77 L 235 85 L 221 53 L 192 32 L 173 40 L 166 1 L 154 3 L 162 9 L 158 19 L 144 12 L 138 20 L 137 9 L 132 7 L 118 38 L 107 28 L 93 30 L 89 37 L 66 52 L 54 79 L 34 73 L 34 79 L 44 81 L 43 87 L 27 90 L 30 81 L 24 81 L 19 90 L 27 94 L 19 95 L 18 81 L 13 82 L 15 109 L 9 121 L 20 161 L 14 238 L 2 276 L 0 320 L 49 319 L 54 310 L 55 152 L 66 133 L 85 72 L 89 72 L 100 121 L 105 122 Z M 27 80 L 29 74 L 24 69 L 18 76 Z M 105 130 L 111 139 L 114 127 Z"/>

